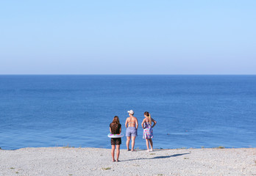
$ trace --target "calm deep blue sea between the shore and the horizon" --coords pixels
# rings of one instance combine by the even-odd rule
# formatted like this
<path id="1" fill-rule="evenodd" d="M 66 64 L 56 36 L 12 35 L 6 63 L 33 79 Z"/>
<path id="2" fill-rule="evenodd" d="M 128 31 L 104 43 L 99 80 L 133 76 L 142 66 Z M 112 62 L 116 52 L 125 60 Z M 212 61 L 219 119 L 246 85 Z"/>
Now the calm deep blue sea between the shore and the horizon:
<path id="1" fill-rule="evenodd" d="M 256 76 L 0 76 L 0 147 L 110 148 L 129 109 L 157 120 L 154 147 L 256 147 Z"/>

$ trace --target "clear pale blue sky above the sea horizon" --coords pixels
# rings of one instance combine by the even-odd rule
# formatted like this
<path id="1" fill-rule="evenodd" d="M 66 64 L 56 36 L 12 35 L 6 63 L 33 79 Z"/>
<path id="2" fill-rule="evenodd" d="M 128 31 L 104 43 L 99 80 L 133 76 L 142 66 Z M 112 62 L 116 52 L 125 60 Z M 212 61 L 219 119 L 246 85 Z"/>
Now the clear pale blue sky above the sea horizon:
<path id="1" fill-rule="evenodd" d="M 1 1 L 0 74 L 256 74 L 256 1 Z"/>

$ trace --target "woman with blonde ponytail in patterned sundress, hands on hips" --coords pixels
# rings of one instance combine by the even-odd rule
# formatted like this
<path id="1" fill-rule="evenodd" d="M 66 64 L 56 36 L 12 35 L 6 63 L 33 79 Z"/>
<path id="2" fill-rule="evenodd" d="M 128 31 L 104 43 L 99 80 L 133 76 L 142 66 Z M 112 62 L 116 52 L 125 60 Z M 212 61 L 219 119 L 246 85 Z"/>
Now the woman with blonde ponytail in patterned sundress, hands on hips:
<path id="1" fill-rule="evenodd" d="M 141 126 L 143 128 L 143 139 L 146 139 L 146 148 L 148 149 L 148 152 L 149 152 L 149 151 L 153 151 L 153 142 L 152 142 L 153 130 L 152 130 L 152 128 L 154 127 L 154 125 L 157 124 L 157 121 L 152 119 L 152 117 L 148 111 L 144 112 L 144 117 L 145 117 L 145 119 L 141 123 Z M 152 122 L 154 122 L 154 125 L 152 125 Z M 150 147 L 151 147 L 150 150 L 149 150 L 149 143 L 150 143 Z"/>

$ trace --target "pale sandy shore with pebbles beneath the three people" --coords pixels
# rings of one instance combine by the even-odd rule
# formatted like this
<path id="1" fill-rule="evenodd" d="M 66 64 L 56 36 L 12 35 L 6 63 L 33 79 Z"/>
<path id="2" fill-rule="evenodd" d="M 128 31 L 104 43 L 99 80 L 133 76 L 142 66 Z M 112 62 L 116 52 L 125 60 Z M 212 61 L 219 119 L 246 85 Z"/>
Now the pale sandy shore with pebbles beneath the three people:
<path id="1" fill-rule="evenodd" d="M 24 148 L 0 150 L 0 175 L 256 175 L 256 148 L 121 150 Z"/>

